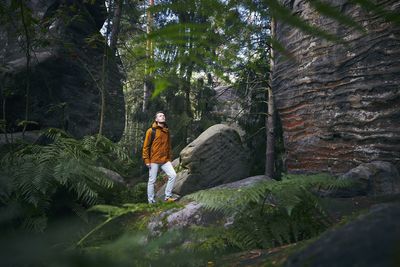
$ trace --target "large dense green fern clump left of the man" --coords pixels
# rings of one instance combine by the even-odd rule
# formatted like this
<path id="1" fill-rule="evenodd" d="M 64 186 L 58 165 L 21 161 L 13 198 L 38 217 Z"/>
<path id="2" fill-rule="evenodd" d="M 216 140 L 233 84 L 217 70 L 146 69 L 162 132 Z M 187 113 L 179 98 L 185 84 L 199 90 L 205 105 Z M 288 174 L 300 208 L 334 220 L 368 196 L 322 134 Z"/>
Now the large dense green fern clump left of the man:
<path id="1" fill-rule="evenodd" d="M 102 201 L 101 192 L 114 183 L 99 167 L 116 170 L 127 160 L 120 148 L 102 136 L 76 140 L 61 130 L 49 129 L 39 139 L 51 143 L 20 143 L 3 156 L 0 173 L 2 205 L 17 207 L 14 219 L 22 219 L 23 226 L 35 230 L 45 228 L 47 213 L 61 192 L 70 195 L 71 203 L 66 204 L 77 213 L 80 209 L 74 208 L 74 203 L 91 206 Z"/>

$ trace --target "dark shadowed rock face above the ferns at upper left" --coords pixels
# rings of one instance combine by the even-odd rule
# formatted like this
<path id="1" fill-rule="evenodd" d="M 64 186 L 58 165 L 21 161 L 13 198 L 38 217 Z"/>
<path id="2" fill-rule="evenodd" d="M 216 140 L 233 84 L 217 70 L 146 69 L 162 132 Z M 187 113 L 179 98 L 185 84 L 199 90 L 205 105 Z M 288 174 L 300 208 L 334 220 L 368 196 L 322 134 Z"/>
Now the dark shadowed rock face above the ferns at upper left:
<path id="1" fill-rule="evenodd" d="M 29 28 L 28 120 L 39 124 L 28 129 L 59 127 L 75 137 L 98 132 L 104 84 L 104 135 L 119 140 L 125 123 L 122 75 L 119 59 L 110 53 L 100 34 L 106 20 L 104 1 L 26 2 L 43 27 Z M 0 26 L 0 110 L 3 117 L 5 103 L 11 132 L 21 130 L 16 125 L 25 119 L 28 83 L 26 35 L 19 13 L 19 9 L 10 13 L 13 21 Z"/>

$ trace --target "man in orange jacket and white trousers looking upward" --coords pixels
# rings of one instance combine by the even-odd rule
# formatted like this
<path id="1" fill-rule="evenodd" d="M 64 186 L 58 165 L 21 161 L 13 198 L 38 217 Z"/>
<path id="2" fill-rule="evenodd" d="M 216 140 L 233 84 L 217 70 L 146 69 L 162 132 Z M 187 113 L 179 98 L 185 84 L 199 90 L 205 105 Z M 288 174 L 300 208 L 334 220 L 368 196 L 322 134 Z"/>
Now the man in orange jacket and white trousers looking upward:
<path id="1" fill-rule="evenodd" d="M 165 188 L 165 201 L 172 202 L 176 172 L 171 164 L 172 149 L 168 126 L 165 122 L 164 112 L 158 111 L 151 128 L 146 132 L 143 143 L 143 160 L 149 168 L 149 182 L 147 184 L 147 199 L 150 204 L 155 203 L 154 183 L 156 182 L 159 167 L 168 175 L 168 183 Z"/>

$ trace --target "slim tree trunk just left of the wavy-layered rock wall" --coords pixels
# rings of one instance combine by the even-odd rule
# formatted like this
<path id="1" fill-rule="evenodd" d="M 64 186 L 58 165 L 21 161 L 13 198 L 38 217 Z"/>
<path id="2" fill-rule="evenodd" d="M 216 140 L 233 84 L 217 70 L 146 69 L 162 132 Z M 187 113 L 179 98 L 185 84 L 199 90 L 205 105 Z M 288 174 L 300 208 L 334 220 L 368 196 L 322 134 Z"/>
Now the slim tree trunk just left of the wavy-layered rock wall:
<path id="1" fill-rule="evenodd" d="M 275 20 L 271 20 L 271 37 L 275 35 Z M 271 45 L 270 48 L 270 73 L 269 73 L 269 88 L 268 92 L 268 115 L 265 118 L 265 126 L 267 131 L 267 146 L 265 158 L 265 175 L 270 178 L 275 177 L 275 104 L 272 92 L 272 72 L 274 69 L 274 50 Z"/>

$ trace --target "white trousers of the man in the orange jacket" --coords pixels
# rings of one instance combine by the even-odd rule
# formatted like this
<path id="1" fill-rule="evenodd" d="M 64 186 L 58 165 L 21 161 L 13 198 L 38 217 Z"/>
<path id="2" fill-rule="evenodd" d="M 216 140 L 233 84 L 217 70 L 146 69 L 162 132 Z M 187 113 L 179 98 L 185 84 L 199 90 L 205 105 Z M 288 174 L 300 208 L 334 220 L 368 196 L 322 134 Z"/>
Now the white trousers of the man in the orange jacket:
<path id="1" fill-rule="evenodd" d="M 165 188 L 165 198 L 172 196 L 172 188 L 174 187 L 176 172 L 171 162 L 168 161 L 164 164 L 151 163 L 149 170 L 149 182 L 147 183 L 147 199 L 149 203 L 155 202 L 154 200 L 154 183 L 157 179 L 158 168 L 161 165 L 161 169 L 168 175 L 168 183 Z"/>

